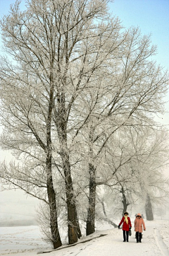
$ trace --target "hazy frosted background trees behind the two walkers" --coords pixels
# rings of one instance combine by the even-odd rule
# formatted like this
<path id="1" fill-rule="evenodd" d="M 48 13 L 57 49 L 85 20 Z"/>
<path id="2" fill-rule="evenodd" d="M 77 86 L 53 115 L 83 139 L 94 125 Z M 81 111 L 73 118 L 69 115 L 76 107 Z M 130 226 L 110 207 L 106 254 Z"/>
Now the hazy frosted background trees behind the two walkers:
<path id="1" fill-rule="evenodd" d="M 127 209 L 131 211 L 139 207 L 142 213 L 145 212 L 146 219 L 152 221 L 153 206 L 168 204 L 168 179 L 161 172 L 168 165 L 168 134 L 146 128 L 146 134 L 142 129 L 139 133 L 130 133 L 130 136 L 130 139 L 123 140 L 120 149 L 128 153 L 133 146 L 132 161 L 120 166 L 120 171 L 111 182 L 106 182 L 105 191 L 102 195 L 99 194 L 98 199 L 103 211 L 99 211 L 99 219 L 104 219 L 113 226 L 117 225 L 112 222 L 112 215 L 115 218 Z"/>

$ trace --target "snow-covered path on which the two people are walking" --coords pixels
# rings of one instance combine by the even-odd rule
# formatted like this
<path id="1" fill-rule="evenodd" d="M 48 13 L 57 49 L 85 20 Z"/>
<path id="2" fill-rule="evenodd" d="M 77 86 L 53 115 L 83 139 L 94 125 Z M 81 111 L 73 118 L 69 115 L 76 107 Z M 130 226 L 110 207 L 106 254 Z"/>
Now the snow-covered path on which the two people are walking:
<path id="1" fill-rule="evenodd" d="M 134 238 L 134 229 L 129 243 L 123 243 L 123 234 L 117 228 L 98 231 L 87 238 L 82 238 L 80 241 L 94 238 L 96 235 L 106 234 L 100 238 L 94 238 L 85 243 L 78 243 L 75 246 L 61 248 L 59 250 L 46 250 L 45 256 L 168 256 L 169 255 L 169 221 L 145 221 L 146 231 L 143 233 L 142 243 L 136 243 Z M 19 238 L 18 238 L 19 242 Z M 15 256 L 35 256 L 39 252 L 39 248 L 33 251 L 15 253 L 11 250 L 2 252 L 0 255 L 15 255 Z M 43 246 L 42 246 L 43 248 Z M 22 248 L 23 249 L 23 248 Z M 31 248 L 30 248 L 31 249 Z M 41 250 L 42 252 L 42 250 Z M 43 250 L 45 252 L 45 250 Z"/>

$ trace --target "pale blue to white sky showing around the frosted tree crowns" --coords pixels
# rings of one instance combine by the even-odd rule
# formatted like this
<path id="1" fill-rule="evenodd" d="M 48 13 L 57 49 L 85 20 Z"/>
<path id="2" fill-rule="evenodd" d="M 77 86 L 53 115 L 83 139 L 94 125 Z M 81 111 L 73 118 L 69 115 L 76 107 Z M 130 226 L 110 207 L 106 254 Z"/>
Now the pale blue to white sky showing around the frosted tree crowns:
<path id="1" fill-rule="evenodd" d="M 10 4 L 15 3 L 15 0 L 0 0 L 0 17 L 7 14 Z M 21 1 L 24 6 L 24 0 Z M 158 64 L 161 64 L 165 69 L 169 68 L 169 0 L 114 0 L 114 3 L 110 4 L 113 15 L 120 18 L 123 25 L 128 28 L 132 25 L 139 26 L 142 34 L 151 33 L 152 43 L 158 46 L 158 54 L 155 59 Z M 1 37 L 0 37 L 1 47 Z M 1 48 L 0 48 L 1 54 Z M 166 97 L 169 100 L 169 93 Z M 169 109 L 169 104 L 166 104 L 166 109 Z M 169 124 L 169 115 L 164 115 L 163 123 Z M 1 132 L 1 127 L 0 127 Z M 6 152 L 0 151 L 0 161 L 6 156 Z M 168 172 L 168 171 L 167 171 Z M 6 194 L 7 193 L 7 194 Z M 14 196 L 15 195 L 15 196 Z M 2 206 L 4 211 L 11 211 L 8 208 L 10 202 L 9 192 L 0 193 L 0 212 Z M 19 196 L 18 192 L 12 192 L 13 206 L 20 204 L 19 198 L 28 202 L 30 199 L 26 199 L 24 194 Z M 8 198 L 8 202 L 6 199 Z M 26 201 L 28 200 L 28 201 Z M 37 204 L 37 201 L 30 200 L 33 204 Z M 22 204 L 24 204 L 22 202 Z M 32 205 L 33 205 L 32 204 Z M 30 207 L 33 212 L 32 205 Z M 15 210 L 14 210 L 15 209 Z M 13 207 L 13 211 L 17 211 L 17 207 Z"/>

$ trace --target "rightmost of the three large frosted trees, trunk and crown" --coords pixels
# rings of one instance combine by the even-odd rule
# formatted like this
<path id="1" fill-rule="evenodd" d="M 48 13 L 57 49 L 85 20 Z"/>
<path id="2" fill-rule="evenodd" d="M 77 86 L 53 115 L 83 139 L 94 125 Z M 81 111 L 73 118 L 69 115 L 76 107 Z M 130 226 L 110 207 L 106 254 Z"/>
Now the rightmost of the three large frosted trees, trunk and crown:
<path id="1" fill-rule="evenodd" d="M 168 85 L 168 75 L 150 59 L 156 47 L 151 47 L 150 37 L 142 36 L 138 28 L 125 33 L 118 50 L 106 64 L 102 81 L 100 78 L 101 94 L 97 94 L 98 104 L 85 130 L 89 156 L 87 234 L 94 232 L 96 173 L 104 169 L 98 163 L 104 163 L 99 160 L 106 154 L 108 141 L 121 127 L 152 125 L 154 114 L 163 111 L 162 98 Z M 86 101 L 89 109 L 92 103 Z"/>

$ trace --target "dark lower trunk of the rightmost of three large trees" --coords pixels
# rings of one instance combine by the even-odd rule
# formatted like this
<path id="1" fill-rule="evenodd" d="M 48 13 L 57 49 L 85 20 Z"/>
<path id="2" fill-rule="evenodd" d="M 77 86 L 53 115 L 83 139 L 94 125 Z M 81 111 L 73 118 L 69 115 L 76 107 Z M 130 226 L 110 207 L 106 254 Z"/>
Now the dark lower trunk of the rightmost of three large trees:
<path id="1" fill-rule="evenodd" d="M 89 208 L 87 211 L 87 228 L 86 235 L 95 231 L 95 207 L 96 207 L 96 180 L 94 165 L 89 163 Z"/>

